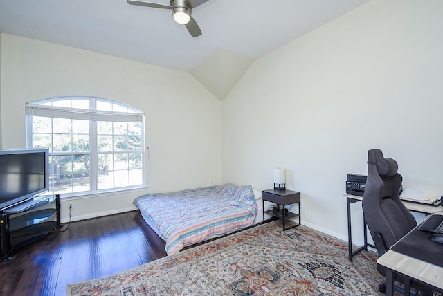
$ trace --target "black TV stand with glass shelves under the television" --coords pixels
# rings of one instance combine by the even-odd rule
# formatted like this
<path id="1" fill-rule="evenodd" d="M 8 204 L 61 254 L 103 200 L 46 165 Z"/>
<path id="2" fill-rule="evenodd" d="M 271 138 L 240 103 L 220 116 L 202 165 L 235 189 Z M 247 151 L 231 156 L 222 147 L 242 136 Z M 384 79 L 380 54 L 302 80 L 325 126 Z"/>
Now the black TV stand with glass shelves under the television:
<path id="1" fill-rule="evenodd" d="M 26 204 L 27 203 L 27 204 Z M 0 261 L 12 259 L 11 253 L 62 227 L 60 196 L 38 196 L 8 209 L 0 210 Z"/>

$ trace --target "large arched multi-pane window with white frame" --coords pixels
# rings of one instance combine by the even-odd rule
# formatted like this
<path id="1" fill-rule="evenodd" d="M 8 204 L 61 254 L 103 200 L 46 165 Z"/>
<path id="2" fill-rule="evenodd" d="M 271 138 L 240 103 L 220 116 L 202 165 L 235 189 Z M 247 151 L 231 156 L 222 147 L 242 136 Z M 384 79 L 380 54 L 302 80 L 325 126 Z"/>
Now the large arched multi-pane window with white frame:
<path id="1" fill-rule="evenodd" d="M 73 196 L 145 186 L 143 112 L 94 97 L 26 104 L 26 146 L 50 154 L 54 194 Z"/>

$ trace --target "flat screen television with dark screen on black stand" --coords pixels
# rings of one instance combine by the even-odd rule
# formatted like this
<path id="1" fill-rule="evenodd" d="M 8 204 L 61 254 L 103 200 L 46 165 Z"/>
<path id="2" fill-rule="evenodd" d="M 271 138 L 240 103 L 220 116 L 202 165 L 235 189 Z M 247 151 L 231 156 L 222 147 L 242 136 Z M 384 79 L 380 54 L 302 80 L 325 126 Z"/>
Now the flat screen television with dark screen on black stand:
<path id="1" fill-rule="evenodd" d="M 0 210 L 48 191 L 48 149 L 0 149 Z"/>

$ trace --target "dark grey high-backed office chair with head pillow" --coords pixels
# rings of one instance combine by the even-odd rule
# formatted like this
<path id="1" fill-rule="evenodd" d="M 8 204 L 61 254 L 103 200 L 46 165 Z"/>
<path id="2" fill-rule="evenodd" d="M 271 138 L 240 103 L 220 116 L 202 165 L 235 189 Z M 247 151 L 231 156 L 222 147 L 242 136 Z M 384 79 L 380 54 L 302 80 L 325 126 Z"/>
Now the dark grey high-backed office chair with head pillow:
<path id="1" fill-rule="evenodd" d="M 363 215 L 374 240 L 379 256 L 386 253 L 399 239 L 417 226 L 415 218 L 400 201 L 403 177 L 397 173 L 398 165 L 392 158 L 384 158 L 379 149 L 368 151 L 368 178 L 363 193 Z M 377 270 L 386 277 L 386 268 L 377 265 Z M 395 281 L 403 282 L 399 276 Z M 413 288 L 426 295 L 428 288 L 413 283 Z M 386 290 L 379 285 L 380 292 Z M 401 291 L 401 288 L 396 287 Z"/>

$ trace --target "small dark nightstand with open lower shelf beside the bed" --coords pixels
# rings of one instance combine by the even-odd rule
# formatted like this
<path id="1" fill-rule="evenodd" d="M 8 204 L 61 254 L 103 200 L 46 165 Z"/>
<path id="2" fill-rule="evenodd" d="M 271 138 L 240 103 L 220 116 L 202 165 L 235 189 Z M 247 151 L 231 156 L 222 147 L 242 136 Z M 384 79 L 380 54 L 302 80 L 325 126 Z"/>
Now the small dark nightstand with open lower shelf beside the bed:
<path id="1" fill-rule="evenodd" d="M 263 190 L 263 221 L 264 214 L 269 214 L 271 216 L 275 216 L 278 219 L 282 219 L 283 221 L 283 231 L 288 230 L 301 225 L 300 218 L 300 192 L 291 191 L 291 190 L 280 190 L 280 189 L 267 189 Z M 264 210 L 264 201 L 269 201 L 271 203 L 275 203 L 276 205 L 282 205 L 283 209 L 281 212 L 274 212 L 273 210 L 265 211 Z M 292 205 L 293 203 L 298 203 L 298 214 L 293 212 L 285 212 L 284 208 L 286 205 Z M 298 217 L 298 224 L 293 225 L 289 228 L 286 227 L 286 222 L 288 219 L 293 219 Z"/>

